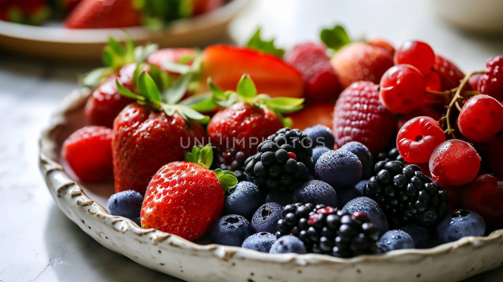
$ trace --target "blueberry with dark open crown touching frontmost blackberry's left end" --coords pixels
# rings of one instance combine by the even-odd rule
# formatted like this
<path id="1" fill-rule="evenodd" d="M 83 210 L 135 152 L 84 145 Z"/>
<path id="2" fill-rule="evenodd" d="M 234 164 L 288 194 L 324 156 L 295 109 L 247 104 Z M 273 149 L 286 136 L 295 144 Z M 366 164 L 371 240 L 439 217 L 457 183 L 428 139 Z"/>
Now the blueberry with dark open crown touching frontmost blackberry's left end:
<path id="1" fill-rule="evenodd" d="M 256 232 L 276 233 L 278 220 L 283 218 L 283 207 L 276 202 L 262 205 L 251 218 L 251 226 Z"/>

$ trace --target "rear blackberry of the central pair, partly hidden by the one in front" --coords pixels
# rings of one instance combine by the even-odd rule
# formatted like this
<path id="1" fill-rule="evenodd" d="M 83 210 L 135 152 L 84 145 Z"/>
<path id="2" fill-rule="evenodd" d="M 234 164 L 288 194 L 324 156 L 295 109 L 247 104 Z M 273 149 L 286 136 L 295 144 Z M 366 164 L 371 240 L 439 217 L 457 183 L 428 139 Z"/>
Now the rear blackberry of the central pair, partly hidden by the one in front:
<path id="1" fill-rule="evenodd" d="M 310 166 L 313 154 L 312 140 L 301 130 L 288 127 L 282 128 L 259 144 L 259 151 L 269 141 L 274 141 L 281 148 L 294 152 L 297 161 L 304 163 L 307 167 Z"/>

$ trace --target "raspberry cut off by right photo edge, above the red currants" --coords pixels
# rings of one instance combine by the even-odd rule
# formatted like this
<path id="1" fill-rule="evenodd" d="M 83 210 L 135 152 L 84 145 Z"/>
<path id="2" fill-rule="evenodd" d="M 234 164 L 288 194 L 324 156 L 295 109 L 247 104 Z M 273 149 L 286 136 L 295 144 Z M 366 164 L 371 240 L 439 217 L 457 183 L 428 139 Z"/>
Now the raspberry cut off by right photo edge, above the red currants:
<path id="1" fill-rule="evenodd" d="M 503 101 L 503 56 L 487 59 L 485 73 L 480 77 L 477 88 L 481 94 Z"/>

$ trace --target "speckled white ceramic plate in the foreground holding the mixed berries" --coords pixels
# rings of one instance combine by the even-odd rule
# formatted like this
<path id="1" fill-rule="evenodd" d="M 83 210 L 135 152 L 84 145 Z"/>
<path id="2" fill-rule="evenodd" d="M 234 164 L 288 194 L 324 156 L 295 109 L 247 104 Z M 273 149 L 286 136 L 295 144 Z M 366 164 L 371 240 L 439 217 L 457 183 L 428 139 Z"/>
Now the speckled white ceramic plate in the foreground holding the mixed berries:
<path id="1" fill-rule="evenodd" d="M 221 245 L 199 245 L 110 215 L 112 183 L 81 185 L 59 164 L 64 139 L 85 125 L 87 89 L 76 90 L 40 139 L 40 170 L 63 213 L 103 246 L 152 269 L 190 282 L 457 281 L 503 265 L 503 230 L 465 237 L 431 249 L 397 250 L 351 259 L 317 254 L 268 254 Z"/>

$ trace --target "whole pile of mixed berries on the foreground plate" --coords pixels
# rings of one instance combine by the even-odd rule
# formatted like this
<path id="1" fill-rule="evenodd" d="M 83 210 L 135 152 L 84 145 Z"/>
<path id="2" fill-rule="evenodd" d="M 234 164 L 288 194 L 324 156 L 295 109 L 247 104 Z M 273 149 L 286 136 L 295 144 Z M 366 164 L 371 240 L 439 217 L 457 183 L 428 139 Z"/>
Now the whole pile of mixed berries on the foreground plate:
<path id="1" fill-rule="evenodd" d="M 109 212 L 142 228 L 275 254 L 347 258 L 503 227 L 503 56 L 465 75 L 421 41 L 351 43 L 340 26 L 321 39 L 285 60 L 260 32 L 200 56 L 115 57 L 65 168 L 89 182 L 113 171 Z"/>

